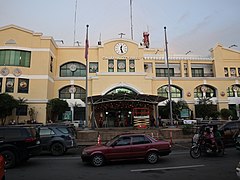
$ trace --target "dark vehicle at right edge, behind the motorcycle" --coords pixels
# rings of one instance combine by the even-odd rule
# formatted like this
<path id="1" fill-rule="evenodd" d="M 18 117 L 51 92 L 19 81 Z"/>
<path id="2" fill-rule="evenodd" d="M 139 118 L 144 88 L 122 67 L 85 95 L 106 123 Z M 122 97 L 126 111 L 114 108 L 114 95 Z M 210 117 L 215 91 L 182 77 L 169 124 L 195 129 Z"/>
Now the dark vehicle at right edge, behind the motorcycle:
<path id="1" fill-rule="evenodd" d="M 240 120 L 228 121 L 219 127 L 225 146 L 234 146 L 235 139 L 239 134 Z"/>

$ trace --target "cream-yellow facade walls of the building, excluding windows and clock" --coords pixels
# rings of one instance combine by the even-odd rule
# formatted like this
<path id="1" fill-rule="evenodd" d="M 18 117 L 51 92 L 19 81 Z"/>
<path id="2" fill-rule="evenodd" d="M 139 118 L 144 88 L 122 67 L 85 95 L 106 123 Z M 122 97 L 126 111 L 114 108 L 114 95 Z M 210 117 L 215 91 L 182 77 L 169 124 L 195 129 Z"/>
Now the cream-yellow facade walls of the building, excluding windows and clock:
<path id="1" fill-rule="evenodd" d="M 125 43 L 127 52 L 117 54 L 115 45 Z M 85 77 L 60 77 L 60 67 L 68 62 L 79 62 L 86 65 L 85 47 L 58 46 L 51 37 L 36 33 L 15 25 L 0 28 L 0 50 L 18 49 L 31 51 L 30 67 L 7 66 L 10 73 L 2 78 L 1 93 L 5 92 L 6 78 L 12 77 L 29 79 L 29 92 L 17 93 L 17 83 L 14 92 L 15 98 L 24 97 L 29 107 L 37 111 L 37 121 L 46 122 L 46 103 L 52 98 L 59 97 L 59 90 L 73 85 L 85 89 Z M 174 68 L 175 76 L 171 77 L 171 84 L 182 90 L 182 100 L 185 100 L 194 112 L 194 89 L 201 85 L 210 85 L 216 89 L 214 103 L 219 110 L 228 108 L 232 100 L 227 96 L 227 88 L 239 85 L 240 52 L 217 45 L 212 50 L 211 57 L 190 55 L 169 55 L 169 66 Z M 102 42 L 102 45 L 90 46 L 89 62 L 98 63 L 98 72 L 89 73 L 88 96 L 104 95 L 115 87 L 128 87 L 141 94 L 157 95 L 158 88 L 168 85 L 167 77 L 156 77 L 156 68 L 166 68 L 164 49 L 149 49 L 129 39 L 112 39 Z M 114 72 L 108 72 L 108 60 L 114 59 Z M 135 72 L 129 72 L 129 60 L 135 60 Z M 117 60 L 126 60 L 126 72 L 117 72 Z M 52 71 L 51 71 L 52 67 Z M 193 67 L 204 67 L 204 72 L 213 74 L 208 77 L 192 77 Z M 0 69 L 4 66 L 0 67 Z M 12 72 L 20 68 L 22 73 L 15 76 Z M 236 69 L 236 75 L 225 76 L 224 68 L 230 72 Z M 187 75 L 186 75 L 187 74 Z M 173 100 L 180 100 L 173 99 Z M 71 100 L 72 103 L 78 100 Z M 68 100 L 70 102 L 70 100 Z M 195 113 L 195 112 L 194 112 Z M 15 119 L 13 115 L 9 121 Z M 20 121 L 26 121 L 29 115 L 21 116 Z"/>

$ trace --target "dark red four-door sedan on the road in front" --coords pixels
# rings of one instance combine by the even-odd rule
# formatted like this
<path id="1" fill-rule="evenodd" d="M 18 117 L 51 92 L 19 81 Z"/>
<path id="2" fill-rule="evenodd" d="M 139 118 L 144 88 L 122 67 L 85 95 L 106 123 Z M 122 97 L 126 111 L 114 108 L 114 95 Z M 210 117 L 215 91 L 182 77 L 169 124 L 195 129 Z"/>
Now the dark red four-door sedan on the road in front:
<path id="1" fill-rule="evenodd" d="M 83 162 L 102 166 L 105 162 L 116 160 L 145 159 L 157 163 L 159 156 L 169 155 L 171 145 L 167 141 L 156 140 L 146 134 L 117 135 L 104 145 L 89 146 L 83 149 Z"/>

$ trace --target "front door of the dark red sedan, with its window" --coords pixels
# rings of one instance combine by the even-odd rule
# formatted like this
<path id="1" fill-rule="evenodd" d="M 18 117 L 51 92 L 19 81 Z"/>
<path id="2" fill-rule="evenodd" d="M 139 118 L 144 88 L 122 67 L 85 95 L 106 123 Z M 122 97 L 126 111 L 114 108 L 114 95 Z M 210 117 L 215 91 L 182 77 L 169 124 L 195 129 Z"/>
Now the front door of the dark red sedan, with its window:
<path id="1" fill-rule="evenodd" d="M 109 160 L 128 159 L 131 157 L 131 137 L 120 137 L 114 141 L 106 152 Z"/>

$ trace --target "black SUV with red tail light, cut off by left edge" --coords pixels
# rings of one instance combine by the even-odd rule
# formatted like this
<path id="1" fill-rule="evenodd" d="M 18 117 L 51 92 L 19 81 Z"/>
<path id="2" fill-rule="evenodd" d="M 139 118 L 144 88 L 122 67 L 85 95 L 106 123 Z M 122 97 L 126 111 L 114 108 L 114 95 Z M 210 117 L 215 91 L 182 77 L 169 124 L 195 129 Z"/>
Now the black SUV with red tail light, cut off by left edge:
<path id="1" fill-rule="evenodd" d="M 0 154 L 6 168 L 13 168 L 41 152 L 39 134 L 31 126 L 0 127 Z"/>

